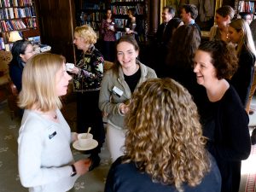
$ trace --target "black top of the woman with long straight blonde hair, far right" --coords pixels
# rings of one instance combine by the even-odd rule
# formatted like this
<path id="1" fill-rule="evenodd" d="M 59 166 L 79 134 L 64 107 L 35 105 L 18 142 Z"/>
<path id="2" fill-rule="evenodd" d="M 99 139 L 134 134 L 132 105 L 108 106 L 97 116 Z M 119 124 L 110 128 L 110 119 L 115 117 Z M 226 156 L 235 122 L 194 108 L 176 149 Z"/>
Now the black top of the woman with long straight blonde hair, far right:
<path id="1" fill-rule="evenodd" d="M 244 108 L 247 106 L 252 86 L 254 63 L 255 55 L 243 47 L 239 56 L 238 69 L 230 81 L 240 96 Z"/>

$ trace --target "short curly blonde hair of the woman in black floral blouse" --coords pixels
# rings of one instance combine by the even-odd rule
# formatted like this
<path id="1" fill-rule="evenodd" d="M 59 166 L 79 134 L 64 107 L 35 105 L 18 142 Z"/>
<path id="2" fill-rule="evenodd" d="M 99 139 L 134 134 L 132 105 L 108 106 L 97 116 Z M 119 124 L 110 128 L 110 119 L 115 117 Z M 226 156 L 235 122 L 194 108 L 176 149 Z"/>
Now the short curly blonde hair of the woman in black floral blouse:
<path id="1" fill-rule="evenodd" d="M 76 32 L 80 38 L 84 38 L 85 43 L 96 44 L 97 42 L 96 32 L 90 26 L 77 26 L 74 32 Z"/>

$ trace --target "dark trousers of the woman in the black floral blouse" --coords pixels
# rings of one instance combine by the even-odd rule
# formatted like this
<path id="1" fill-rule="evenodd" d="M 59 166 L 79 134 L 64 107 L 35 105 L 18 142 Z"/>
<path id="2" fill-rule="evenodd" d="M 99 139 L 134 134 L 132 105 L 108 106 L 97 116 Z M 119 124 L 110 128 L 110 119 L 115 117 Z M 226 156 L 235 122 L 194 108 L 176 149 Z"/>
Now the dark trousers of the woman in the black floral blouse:
<path id="1" fill-rule="evenodd" d="M 84 133 L 91 127 L 90 133 L 98 142 L 98 146 L 88 154 L 99 154 L 102 144 L 105 141 L 105 131 L 102 122 L 102 112 L 98 108 L 100 90 L 87 91 L 77 94 L 77 116 L 78 116 L 78 133 Z"/>

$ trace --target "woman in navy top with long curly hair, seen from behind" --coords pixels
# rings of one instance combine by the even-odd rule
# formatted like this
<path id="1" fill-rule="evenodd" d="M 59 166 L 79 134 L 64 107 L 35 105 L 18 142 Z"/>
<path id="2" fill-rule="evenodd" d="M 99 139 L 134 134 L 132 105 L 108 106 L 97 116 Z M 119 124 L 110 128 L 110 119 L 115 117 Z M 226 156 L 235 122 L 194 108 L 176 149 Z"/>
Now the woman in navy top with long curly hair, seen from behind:
<path id="1" fill-rule="evenodd" d="M 195 103 L 172 79 L 150 79 L 131 98 L 125 156 L 105 192 L 220 191 L 218 166 L 205 149 Z"/>

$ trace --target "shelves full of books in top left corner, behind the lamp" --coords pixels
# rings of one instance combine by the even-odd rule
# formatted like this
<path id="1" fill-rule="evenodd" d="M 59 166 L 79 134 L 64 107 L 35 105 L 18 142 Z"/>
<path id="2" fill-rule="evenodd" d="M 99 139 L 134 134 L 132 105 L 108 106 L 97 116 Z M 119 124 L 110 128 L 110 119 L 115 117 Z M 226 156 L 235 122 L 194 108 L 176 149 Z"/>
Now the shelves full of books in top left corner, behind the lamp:
<path id="1" fill-rule="evenodd" d="M 38 32 L 38 21 L 33 0 L 0 1 L 0 49 L 9 49 L 9 32 Z M 36 32 L 35 32 L 36 31 Z"/>

